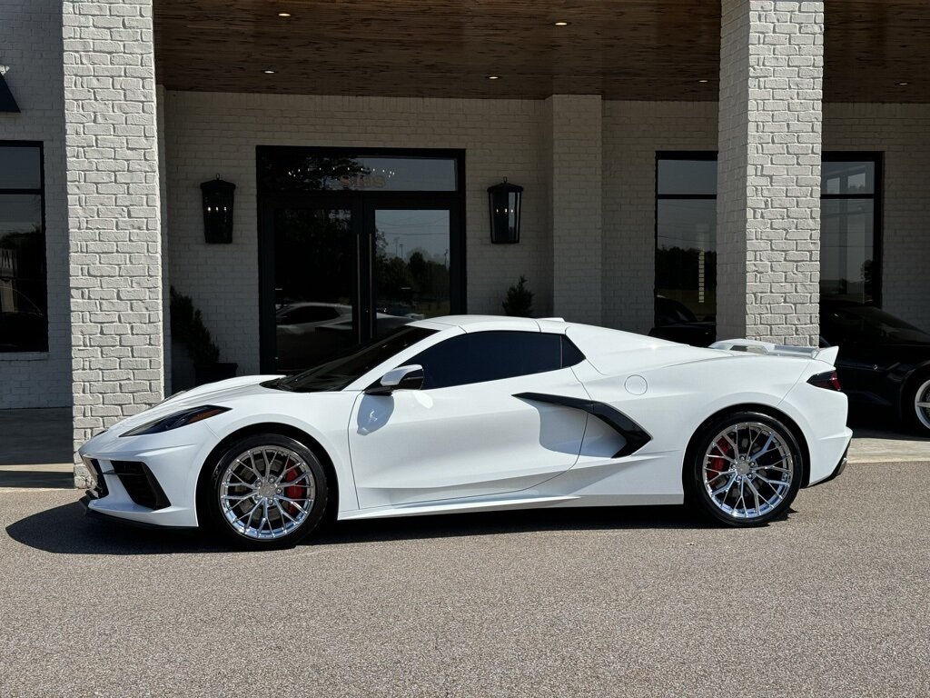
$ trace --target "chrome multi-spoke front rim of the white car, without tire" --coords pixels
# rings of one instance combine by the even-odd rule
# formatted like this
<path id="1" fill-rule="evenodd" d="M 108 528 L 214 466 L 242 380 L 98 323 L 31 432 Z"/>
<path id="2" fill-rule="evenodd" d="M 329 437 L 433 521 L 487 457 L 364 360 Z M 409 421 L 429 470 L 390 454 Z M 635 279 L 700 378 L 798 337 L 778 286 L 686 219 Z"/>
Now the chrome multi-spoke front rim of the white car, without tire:
<path id="1" fill-rule="evenodd" d="M 293 450 L 259 446 L 243 451 L 223 471 L 219 510 L 240 535 L 256 541 L 281 538 L 310 516 L 316 481 Z"/>

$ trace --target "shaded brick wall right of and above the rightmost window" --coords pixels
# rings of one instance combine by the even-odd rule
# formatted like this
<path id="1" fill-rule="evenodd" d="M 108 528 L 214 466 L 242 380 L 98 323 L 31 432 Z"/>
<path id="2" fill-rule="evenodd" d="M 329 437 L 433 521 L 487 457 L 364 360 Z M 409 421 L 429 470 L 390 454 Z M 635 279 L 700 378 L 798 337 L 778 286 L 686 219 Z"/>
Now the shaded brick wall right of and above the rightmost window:
<path id="1" fill-rule="evenodd" d="M 930 330 L 930 104 L 826 104 L 823 142 L 883 153 L 882 305 Z"/>

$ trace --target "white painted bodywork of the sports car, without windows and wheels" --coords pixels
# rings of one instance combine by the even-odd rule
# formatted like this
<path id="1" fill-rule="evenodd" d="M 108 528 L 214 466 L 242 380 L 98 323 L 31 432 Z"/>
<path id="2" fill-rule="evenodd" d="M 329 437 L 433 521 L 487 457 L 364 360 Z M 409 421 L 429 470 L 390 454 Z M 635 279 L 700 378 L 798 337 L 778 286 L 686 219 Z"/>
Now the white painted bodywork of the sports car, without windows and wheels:
<path id="1" fill-rule="evenodd" d="M 235 378 L 114 424 L 80 450 L 99 464 L 109 490 L 91 499 L 88 509 L 139 523 L 198 526 L 197 484 L 205 464 L 225 439 L 247 429 L 309 436 L 332 465 L 340 519 L 681 503 L 689 440 L 711 415 L 735 406 L 774 411 L 797 425 L 810 454 L 810 484 L 834 473 L 851 437 L 846 397 L 806 383 L 832 369 L 830 354 L 698 349 L 552 318 L 455 315 L 411 325 L 435 334 L 342 390 L 286 392 L 261 384 L 275 376 Z M 423 349 L 488 330 L 565 334 L 585 358 L 569 368 L 499 381 L 365 394 Z M 575 403 L 515 397 L 525 393 Z M 635 432 L 621 433 L 578 408 L 594 403 L 617 410 L 648 440 L 636 445 L 628 441 Z M 227 411 L 166 432 L 121 436 L 207 405 Z M 618 456 L 628 448 L 631 452 Z M 153 510 L 133 502 L 113 473 L 113 461 L 145 463 L 170 505 Z"/>

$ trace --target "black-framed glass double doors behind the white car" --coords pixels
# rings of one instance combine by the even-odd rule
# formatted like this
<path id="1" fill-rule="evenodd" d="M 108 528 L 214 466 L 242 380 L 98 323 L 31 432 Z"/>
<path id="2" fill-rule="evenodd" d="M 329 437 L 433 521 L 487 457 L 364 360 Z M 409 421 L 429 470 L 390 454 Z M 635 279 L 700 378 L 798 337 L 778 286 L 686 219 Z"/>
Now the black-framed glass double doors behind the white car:
<path id="1" fill-rule="evenodd" d="M 461 151 L 260 146 L 261 370 L 465 312 Z"/>

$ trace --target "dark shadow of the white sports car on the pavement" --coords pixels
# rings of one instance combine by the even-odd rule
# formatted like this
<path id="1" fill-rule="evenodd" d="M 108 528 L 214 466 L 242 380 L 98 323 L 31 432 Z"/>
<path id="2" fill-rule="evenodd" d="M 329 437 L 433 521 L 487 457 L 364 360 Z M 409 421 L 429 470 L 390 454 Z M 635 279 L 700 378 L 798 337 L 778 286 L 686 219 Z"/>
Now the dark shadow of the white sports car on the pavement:
<path id="1" fill-rule="evenodd" d="M 789 516 L 793 509 L 789 510 Z M 684 506 L 630 506 L 446 514 L 334 521 L 302 545 L 385 543 L 414 539 L 512 535 L 546 531 L 711 529 Z M 200 530 L 145 529 L 88 518 L 80 503 L 64 504 L 7 526 L 14 541 L 64 555 L 229 553 Z"/>

